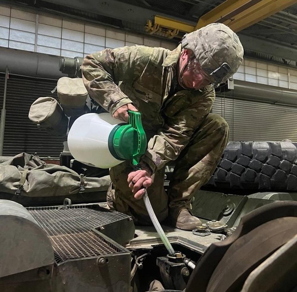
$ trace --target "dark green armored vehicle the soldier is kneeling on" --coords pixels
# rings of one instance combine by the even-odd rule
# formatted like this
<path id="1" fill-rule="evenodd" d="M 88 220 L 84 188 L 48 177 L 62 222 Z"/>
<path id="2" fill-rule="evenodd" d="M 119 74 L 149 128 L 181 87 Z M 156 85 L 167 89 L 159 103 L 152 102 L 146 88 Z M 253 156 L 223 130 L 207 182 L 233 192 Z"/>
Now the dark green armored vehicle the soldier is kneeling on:
<path id="1" fill-rule="evenodd" d="M 50 133 L 65 134 L 80 115 L 101 111 L 79 64 L 62 58 L 70 77 L 58 81 L 59 100 L 31 106 L 30 119 Z M 59 164 L 28 153 L 1 156 L 0 289 L 296 291 L 296 146 L 229 142 L 192 200 L 202 225 L 185 231 L 162 222 L 173 253 L 154 226 L 108 208 L 108 171 L 76 161 L 67 142 Z M 166 167 L 165 190 L 173 168 Z"/>

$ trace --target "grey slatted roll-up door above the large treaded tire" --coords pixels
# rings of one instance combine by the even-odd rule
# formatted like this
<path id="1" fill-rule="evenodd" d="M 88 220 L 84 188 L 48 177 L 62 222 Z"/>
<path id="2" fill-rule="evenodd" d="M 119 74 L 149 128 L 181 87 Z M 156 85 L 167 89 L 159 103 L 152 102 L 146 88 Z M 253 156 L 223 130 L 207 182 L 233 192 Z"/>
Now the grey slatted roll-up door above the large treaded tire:
<path id="1" fill-rule="evenodd" d="M 217 96 L 213 112 L 230 128 L 229 141 L 297 141 L 297 107 Z"/>

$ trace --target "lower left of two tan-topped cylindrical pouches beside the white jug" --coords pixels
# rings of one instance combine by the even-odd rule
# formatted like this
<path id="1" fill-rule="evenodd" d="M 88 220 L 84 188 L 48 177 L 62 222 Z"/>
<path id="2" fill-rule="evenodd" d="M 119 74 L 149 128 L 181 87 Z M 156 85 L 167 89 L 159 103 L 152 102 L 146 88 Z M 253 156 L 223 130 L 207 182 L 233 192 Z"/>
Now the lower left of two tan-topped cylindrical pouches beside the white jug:
<path id="1" fill-rule="evenodd" d="M 32 103 L 29 119 L 52 135 L 66 135 L 68 117 L 55 98 L 40 97 Z"/>

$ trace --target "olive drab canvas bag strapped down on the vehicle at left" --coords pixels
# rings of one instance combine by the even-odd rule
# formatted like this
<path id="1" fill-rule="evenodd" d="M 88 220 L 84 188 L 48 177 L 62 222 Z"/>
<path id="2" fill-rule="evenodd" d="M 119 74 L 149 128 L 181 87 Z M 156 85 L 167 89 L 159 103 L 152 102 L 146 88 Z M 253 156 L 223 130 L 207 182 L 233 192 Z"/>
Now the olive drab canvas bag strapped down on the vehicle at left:
<path id="1" fill-rule="evenodd" d="M 50 197 L 106 191 L 109 175 L 91 178 L 65 166 L 47 164 L 38 156 L 20 153 L 0 163 L 0 192 L 28 197 Z"/>

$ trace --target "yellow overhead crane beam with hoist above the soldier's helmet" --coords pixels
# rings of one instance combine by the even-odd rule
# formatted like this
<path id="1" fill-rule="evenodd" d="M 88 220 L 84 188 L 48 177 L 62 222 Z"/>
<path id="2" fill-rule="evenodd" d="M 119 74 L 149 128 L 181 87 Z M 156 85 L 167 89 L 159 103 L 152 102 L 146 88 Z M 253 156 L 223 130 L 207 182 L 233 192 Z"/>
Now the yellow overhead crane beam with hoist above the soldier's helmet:
<path id="1" fill-rule="evenodd" d="M 173 38 L 179 32 L 189 33 L 209 23 L 220 22 L 229 26 L 234 32 L 239 32 L 296 3 L 297 0 L 226 0 L 202 15 L 196 26 L 155 15 L 154 24 L 151 20 L 147 21 L 146 31 Z"/>

